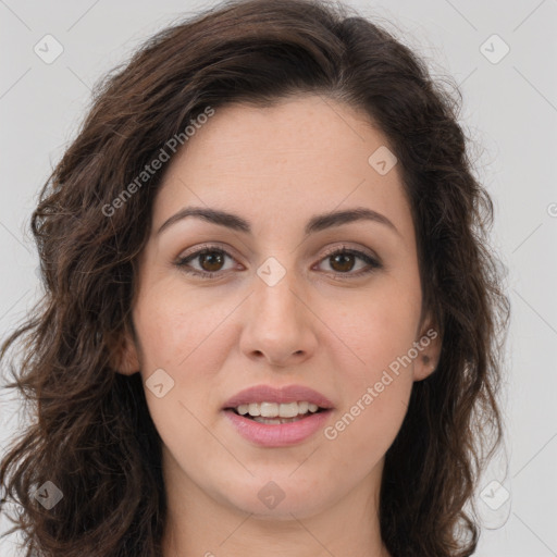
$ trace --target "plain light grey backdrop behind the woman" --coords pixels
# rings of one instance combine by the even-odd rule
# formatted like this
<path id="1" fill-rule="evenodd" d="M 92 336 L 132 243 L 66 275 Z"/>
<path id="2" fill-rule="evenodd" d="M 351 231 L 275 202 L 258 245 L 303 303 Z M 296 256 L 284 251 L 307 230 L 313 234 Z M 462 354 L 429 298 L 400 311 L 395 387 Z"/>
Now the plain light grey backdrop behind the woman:
<path id="1" fill-rule="evenodd" d="M 556 556 L 557 0 L 347 3 L 376 17 L 426 59 L 434 76 L 449 75 L 462 91 L 460 122 L 494 199 L 493 245 L 512 306 L 502 392 L 509 450 L 480 486 L 496 492 L 498 503 L 490 506 L 479 493 L 485 527 L 476 555 Z M 2 338 L 40 295 L 28 219 L 85 115 L 91 86 L 157 30 L 210 5 L 0 0 Z M 51 55 L 63 48 L 51 63 L 35 51 L 45 40 Z M 2 391 L 1 447 L 18 424 L 12 396 Z M 14 555 L 14 541 L 0 543 L 2 556 Z"/>

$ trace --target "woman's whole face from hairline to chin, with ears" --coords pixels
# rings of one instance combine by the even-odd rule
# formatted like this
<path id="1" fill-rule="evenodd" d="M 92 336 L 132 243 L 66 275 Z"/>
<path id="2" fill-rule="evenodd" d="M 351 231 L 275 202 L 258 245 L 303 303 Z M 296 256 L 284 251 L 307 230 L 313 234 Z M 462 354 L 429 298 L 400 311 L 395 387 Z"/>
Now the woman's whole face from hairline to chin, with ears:
<path id="1" fill-rule="evenodd" d="M 119 370 L 141 374 L 168 491 L 276 519 L 376 496 L 438 356 L 387 146 L 363 113 L 306 96 L 219 109 L 171 161 Z M 169 221 L 186 208 L 235 216 Z M 380 216 L 317 219 L 354 209 Z M 263 423 L 249 403 L 298 417 Z"/>

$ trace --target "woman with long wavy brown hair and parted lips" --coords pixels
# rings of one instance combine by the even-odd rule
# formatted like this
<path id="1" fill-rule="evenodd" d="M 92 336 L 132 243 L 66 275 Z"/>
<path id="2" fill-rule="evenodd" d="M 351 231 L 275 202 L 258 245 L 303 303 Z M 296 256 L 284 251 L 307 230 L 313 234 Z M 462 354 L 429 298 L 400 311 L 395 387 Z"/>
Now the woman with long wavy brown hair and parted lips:
<path id="1" fill-rule="evenodd" d="M 456 108 L 302 0 L 220 5 L 104 81 L 2 351 L 27 338 L 0 469 L 27 555 L 474 553 L 509 306 Z"/>

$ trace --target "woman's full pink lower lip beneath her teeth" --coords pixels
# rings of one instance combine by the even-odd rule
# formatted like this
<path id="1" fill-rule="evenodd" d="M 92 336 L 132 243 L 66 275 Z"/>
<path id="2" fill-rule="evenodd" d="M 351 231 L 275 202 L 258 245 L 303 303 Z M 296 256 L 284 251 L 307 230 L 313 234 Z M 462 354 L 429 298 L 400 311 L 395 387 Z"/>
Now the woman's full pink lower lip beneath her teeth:
<path id="1" fill-rule="evenodd" d="M 322 410 L 288 423 L 259 423 L 233 410 L 224 410 L 236 431 L 246 440 L 264 447 L 296 445 L 323 428 L 331 410 Z"/>

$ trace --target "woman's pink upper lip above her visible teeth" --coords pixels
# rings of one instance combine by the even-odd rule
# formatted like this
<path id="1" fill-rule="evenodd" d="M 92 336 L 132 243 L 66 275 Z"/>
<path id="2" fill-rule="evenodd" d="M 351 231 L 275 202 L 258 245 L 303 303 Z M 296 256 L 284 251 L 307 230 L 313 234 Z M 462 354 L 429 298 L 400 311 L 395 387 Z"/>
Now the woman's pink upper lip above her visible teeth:
<path id="1" fill-rule="evenodd" d="M 236 393 L 225 404 L 224 408 L 236 408 L 250 403 L 313 403 L 321 408 L 333 408 L 333 403 L 326 396 L 304 385 L 287 385 L 281 388 L 271 385 L 255 385 Z"/>

